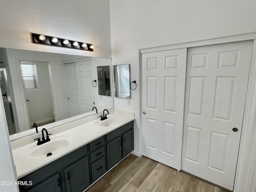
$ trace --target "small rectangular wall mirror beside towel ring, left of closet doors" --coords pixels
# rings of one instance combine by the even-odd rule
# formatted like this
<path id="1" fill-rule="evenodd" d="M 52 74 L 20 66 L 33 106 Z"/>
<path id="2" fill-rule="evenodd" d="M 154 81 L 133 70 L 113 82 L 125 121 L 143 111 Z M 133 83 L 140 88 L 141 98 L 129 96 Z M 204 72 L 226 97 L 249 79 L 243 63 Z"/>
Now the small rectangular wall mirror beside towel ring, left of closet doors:
<path id="1" fill-rule="evenodd" d="M 115 97 L 130 98 L 130 64 L 114 65 Z"/>

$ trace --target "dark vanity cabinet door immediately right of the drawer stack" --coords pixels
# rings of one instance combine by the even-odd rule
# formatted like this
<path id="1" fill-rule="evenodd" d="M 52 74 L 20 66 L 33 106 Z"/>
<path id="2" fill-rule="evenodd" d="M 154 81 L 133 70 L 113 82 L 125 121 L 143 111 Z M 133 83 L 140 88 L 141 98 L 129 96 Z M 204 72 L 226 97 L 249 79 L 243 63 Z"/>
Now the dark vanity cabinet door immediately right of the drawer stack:
<path id="1" fill-rule="evenodd" d="M 122 159 L 121 136 L 107 143 L 108 169 L 112 168 Z"/>

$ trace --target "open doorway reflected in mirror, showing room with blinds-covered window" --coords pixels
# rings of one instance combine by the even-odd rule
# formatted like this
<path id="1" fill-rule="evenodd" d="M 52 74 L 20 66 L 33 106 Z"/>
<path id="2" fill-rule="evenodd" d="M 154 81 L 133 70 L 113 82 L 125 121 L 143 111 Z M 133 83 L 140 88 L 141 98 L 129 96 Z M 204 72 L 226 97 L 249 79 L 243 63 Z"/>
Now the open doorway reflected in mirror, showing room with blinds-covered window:
<path id="1" fill-rule="evenodd" d="M 20 61 L 30 128 L 55 122 L 48 62 Z"/>

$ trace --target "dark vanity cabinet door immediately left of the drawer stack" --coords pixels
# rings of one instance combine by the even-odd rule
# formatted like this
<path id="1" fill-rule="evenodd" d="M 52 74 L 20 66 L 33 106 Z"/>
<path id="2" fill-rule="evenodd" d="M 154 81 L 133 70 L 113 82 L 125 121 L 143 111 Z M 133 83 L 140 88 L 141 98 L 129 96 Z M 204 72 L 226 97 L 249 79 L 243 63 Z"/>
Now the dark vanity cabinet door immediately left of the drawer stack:
<path id="1" fill-rule="evenodd" d="M 82 192 L 90 184 L 88 156 L 64 169 L 67 192 Z"/>

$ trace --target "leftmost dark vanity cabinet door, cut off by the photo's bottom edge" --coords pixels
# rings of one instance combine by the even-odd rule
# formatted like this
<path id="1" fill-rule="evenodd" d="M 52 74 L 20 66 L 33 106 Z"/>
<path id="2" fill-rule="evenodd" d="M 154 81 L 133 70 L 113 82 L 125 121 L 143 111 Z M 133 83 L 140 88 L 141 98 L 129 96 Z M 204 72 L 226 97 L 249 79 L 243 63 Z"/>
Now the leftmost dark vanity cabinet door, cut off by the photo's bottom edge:
<path id="1" fill-rule="evenodd" d="M 39 185 L 35 186 L 28 192 L 61 192 L 60 188 L 60 175 L 56 174 L 44 182 L 40 183 Z"/>

